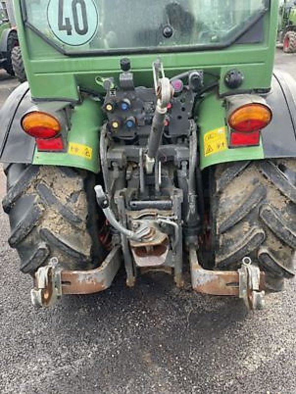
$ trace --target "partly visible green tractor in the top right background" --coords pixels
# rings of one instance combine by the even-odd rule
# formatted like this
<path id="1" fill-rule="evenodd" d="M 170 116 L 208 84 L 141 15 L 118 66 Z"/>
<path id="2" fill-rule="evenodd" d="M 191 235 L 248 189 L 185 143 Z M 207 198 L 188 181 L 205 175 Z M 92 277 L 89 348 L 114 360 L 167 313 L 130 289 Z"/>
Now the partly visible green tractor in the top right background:
<path id="1" fill-rule="evenodd" d="M 284 0 L 279 8 L 278 41 L 285 53 L 296 52 L 296 1 Z"/>

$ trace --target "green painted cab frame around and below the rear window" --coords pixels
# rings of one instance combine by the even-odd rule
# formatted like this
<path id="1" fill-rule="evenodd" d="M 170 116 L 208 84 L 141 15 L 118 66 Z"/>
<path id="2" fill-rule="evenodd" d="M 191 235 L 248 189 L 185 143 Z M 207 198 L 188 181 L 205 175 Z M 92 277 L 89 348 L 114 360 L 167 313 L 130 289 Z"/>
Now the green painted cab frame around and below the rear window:
<path id="1" fill-rule="evenodd" d="M 243 2 L 243 0 L 241 0 Z M 25 28 L 20 0 L 14 0 L 19 41 L 32 97 L 77 99 L 78 87 L 97 88 L 95 79 L 119 76 L 122 55 L 64 56 L 29 28 Z M 37 10 L 36 10 L 37 12 Z M 269 88 L 273 66 L 278 1 L 271 1 L 270 12 L 264 17 L 263 41 L 254 44 L 233 44 L 224 49 L 165 54 L 131 54 L 136 86 L 152 86 L 152 63 L 160 57 L 166 76 L 189 69 L 202 68 L 221 76 L 220 93 L 227 91 L 222 79 L 235 67 L 244 74 L 242 89 Z M 126 56 L 126 55 L 125 55 Z"/>

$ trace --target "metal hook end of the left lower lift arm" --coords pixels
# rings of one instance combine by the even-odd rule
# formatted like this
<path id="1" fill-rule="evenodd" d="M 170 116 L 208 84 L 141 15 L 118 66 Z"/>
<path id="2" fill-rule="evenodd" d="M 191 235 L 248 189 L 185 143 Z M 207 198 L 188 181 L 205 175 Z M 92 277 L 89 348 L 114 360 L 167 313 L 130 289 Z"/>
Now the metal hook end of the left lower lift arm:
<path id="1" fill-rule="evenodd" d="M 62 268 L 58 264 L 58 258 L 52 257 L 48 265 L 38 268 L 35 273 L 34 288 L 31 290 L 34 306 L 52 306 L 62 296 Z"/>

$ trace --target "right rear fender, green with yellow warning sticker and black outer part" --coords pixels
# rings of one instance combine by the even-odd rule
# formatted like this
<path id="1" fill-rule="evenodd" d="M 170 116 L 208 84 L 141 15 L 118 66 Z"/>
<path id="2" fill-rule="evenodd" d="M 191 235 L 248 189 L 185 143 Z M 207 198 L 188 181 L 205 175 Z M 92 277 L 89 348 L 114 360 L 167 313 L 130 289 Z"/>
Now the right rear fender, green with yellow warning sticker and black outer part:
<path id="1" fill-rule="evenodd" d="M 273 73 L 271 90 L 263 96 L 272 110 L 259 146 L 229 148 L 224 99 L 210 94 L 197 109 L 201 169 L 239 160 L 296 157 L 296 81 L 287 73 Z"/>

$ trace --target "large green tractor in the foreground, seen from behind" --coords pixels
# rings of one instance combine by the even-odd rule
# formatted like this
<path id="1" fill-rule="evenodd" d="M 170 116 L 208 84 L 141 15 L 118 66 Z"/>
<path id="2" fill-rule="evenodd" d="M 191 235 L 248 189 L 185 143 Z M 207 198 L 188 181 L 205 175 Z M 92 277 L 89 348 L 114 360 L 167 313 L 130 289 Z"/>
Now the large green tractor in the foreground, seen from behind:
<path id="1" fill-rule="evenodd" d="M 2 205 L 34 305 L 162 271 L 257 309 L 294 276 L 278 6 L 15 0 L 29 83 L 1 109 Z"/>

